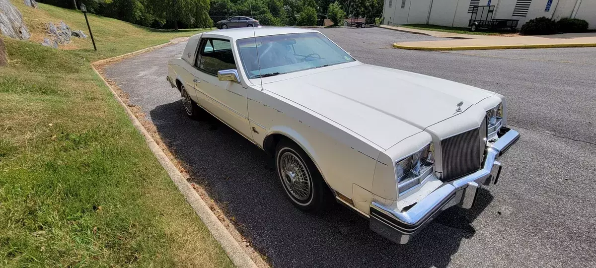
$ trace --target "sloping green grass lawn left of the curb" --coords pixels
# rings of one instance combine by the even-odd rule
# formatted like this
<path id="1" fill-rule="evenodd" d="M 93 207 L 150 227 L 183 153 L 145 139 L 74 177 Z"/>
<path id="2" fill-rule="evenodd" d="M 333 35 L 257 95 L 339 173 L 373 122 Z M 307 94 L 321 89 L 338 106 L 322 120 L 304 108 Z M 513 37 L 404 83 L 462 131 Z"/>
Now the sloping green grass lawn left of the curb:
<path id="1" fill-rule="evenodd" d="M 47 21 L 86 32 L 76 11 L 12 2 L 33 40 Z M 0 267 L 232 267 L 90 65 L 197 31 L 89 19 L 98 52 L 4 38 Z"/>

